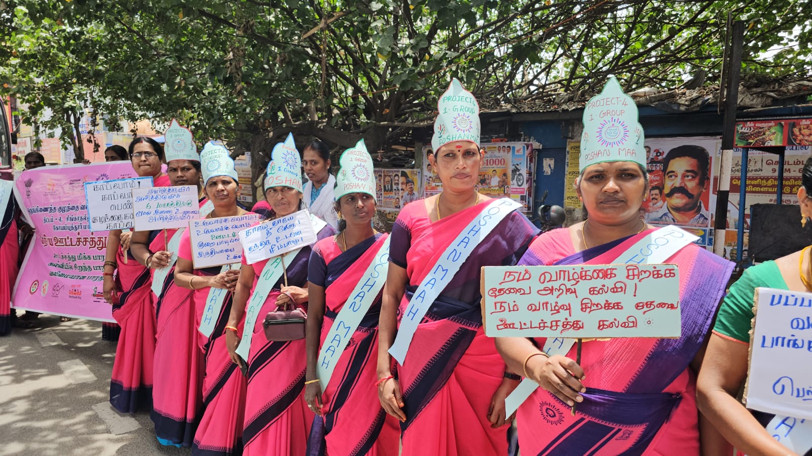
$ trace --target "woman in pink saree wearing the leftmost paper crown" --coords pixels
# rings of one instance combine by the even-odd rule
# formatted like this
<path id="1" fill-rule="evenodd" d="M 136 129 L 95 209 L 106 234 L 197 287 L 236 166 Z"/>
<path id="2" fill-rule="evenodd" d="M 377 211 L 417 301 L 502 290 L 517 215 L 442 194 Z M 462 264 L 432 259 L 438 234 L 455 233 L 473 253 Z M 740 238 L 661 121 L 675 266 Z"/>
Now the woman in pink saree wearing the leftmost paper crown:
<path id="1" fill-rule="evenodd" d="M 192 132 L 172 119 L 164 137 L 167 144 L 166 174 L 172 187 L 195 186 L 195 195 L 199 196 L 201 162 L 192 141 Z M 150 414 L 155 433 L 162 445 L 192 446 L 201 409 L 203 372 L 201 351 L 197 347 L 192 291 L 174 282 L 178 256 L 172 252 L 178 251 L 183 232 L 183 228 L 136 231 L 132 234 L 131 245 L 132 256 L 153 273 L 152 290 L 158 296 L 155 382 Z"/>

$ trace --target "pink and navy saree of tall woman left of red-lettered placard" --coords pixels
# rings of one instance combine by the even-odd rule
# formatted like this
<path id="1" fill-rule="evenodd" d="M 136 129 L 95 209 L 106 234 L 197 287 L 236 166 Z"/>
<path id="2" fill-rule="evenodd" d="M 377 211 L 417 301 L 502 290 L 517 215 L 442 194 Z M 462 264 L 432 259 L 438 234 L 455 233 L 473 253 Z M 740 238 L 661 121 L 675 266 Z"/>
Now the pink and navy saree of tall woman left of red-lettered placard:
<path id="1" fill-rule="evenodd" d="M 409 277 L 399 317 L 446 247 L 487 204 L 434 223 L 424 200 L 400 212 L 390 247 L 390 261 Z M 396 367 L 407 417 L 400 425 L 402 454 L 508 454 L 508 426 L 491 428 L 487 417 L 505 364 L 482 329 L 480 269 L 515 265 L 536 234 L 524 215 L 510 213 L 474 248 L 418 325 L 404 364 Z"/>

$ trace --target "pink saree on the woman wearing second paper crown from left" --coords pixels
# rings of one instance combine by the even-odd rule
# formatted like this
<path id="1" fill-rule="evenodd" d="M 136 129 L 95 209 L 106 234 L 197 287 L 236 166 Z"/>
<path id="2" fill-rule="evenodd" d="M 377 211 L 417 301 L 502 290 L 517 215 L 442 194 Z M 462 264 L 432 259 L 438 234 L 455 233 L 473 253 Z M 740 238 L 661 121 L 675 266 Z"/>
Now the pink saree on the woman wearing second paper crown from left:
<path id="1" fill-rule="evenodd" d="M 180 238 L 178 256 L 192 260 L 192 242 L 188 230 Z M 220 273 L 220 267 L 195 269 L 199 277 Z M 231 456 L 242 454 L 242 423 L 245 405 L 245 376 L 240 368 L 231 362 L 223 337 L 231 313 L 233 295 L 227 292 L 222 308 L 217 316 L 214 331 L 206 338 L 198 331 L 200 328 L 209 287 L 194 291 L 194 322 L 192 331 L 197 340 L 197 347 L 203 355 L 205 372 L 202 381 L 203 405 L 197 431 L 192 441 L 192 454 L 197 456 Z M 237 328 L 242 331 L 243 322 Z"/>

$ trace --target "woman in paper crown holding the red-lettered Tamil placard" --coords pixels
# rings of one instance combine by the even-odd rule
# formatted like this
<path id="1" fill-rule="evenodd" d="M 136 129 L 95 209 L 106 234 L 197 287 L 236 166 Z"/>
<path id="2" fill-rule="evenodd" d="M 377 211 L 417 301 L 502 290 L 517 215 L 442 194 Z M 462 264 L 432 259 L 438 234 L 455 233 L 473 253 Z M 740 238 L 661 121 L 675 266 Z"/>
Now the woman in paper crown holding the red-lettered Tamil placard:
<path id="1" fill-rule="evenodd" d="M 612 102 L 624 106 L 622 115 L 601 118 L 601 106 Z M 508 367 L 525 376 L 516 389 L 518 398 L 508 401 L 512 407 L 521 404 L 516 415 L 520 451 L 700 454 L 696 372 L 732 263 L 693 244 L 697 238 L 685 231 L 672 226 L 651 230 L 641 220 L 648 191 L 643 131 L 634 101 L 614 77 L 587 105 L 584 124 L 576 189 L 589 219 L 542 234 L 520 265 L 676 264 L 679 296 L 662 299 L 678 299 L 681 335 L 598 339 L 582 346 L 572 338 L 497 338 Z M 636 307 L 633 297 L 597 297 L 620 301 L 631 309 L 628 315 Z M 581 311 L 583 298 L 559 297 L 572 299 L 570 320 L 577 319 L 575 306 L 586 312 Z M 556 316 L 540 312 L 538 318 Z M 645 320 L 638 320 L 645 331 Z M 703 427 L 701 435 L 702 450 L 718 437 L 710 427 Z"/>

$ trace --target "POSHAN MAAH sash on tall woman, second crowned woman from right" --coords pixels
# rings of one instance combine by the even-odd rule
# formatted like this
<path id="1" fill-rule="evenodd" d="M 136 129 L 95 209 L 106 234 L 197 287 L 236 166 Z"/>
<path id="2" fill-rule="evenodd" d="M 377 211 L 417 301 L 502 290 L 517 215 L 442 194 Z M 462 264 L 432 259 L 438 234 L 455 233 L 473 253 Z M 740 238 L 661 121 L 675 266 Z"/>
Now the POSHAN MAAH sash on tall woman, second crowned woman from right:
<path id="1" fill-rule="evenodd" d="M 412 343 L 417 325 L 423 320 L 425 312 L 429 311 L 434 300 L 451 283 L 451 279 L 460 270 L 465 260 L 468 260 L 473 249 L 499 225 L 499 222 L 503 221 L 504 217 L 508 217 L 509 213 L 520 207 L 521 204 L 510 198 L 490 201 L 485 209 L 482 209 L 482 212 L 468 226 L 465 226 L 460 235 L 446 248 L 437 264 L 431 268 L 431 272 L 417 287 L 400 320 L 397 337 L 389 349 L 389 353 L 400 364 L 404 364 L 406 352 L 409 344 Z"/>

